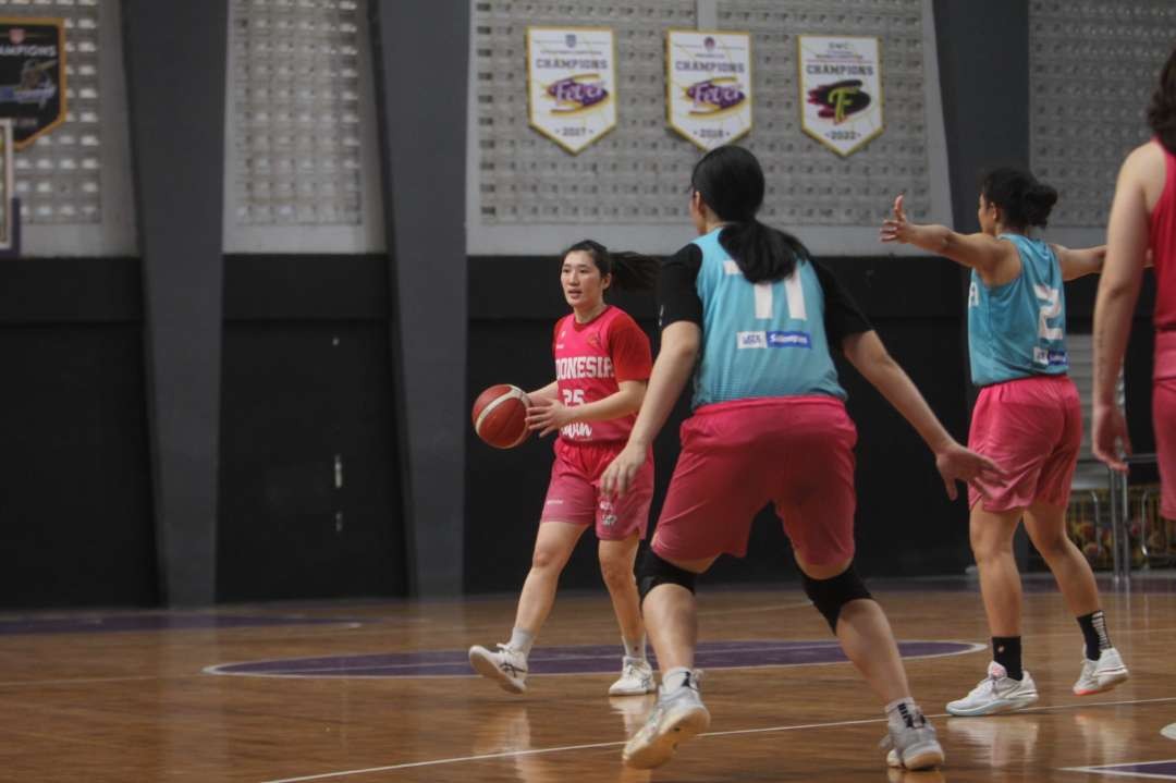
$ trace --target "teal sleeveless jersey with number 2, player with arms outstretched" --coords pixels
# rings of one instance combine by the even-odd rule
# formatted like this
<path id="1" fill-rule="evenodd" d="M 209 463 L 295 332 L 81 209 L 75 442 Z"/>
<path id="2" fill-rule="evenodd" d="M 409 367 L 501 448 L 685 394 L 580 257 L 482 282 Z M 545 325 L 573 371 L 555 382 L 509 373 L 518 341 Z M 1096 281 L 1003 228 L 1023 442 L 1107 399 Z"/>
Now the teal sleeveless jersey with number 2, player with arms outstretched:
<path id="1" fill-rule="evenodd" d="M 1063 375 L 1065 289 L 1054 250 L 1042 240 L 1001 234 L 1021 255 L 1021 274 L 988 287 L 974 269 L 968 290 L 971 381 L 990 386 L 1031 375 Z"/>

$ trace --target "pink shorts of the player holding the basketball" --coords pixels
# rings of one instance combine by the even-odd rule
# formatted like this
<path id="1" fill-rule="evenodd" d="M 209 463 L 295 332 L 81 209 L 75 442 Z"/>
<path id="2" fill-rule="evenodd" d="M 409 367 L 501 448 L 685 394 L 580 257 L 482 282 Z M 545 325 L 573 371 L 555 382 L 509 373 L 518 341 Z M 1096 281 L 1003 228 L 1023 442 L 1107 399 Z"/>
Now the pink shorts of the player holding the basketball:
<path id="1" fill-rule="evenodd" d="M 623 442 L 569 443 L 555 440 L 555 463 L 540 522 L 568 522 L 596 526 L 601 541 L 623 541 L 634 533 L 646 537 L 649 527 L 649 504 L 654 497 L 654 455 L 634 477 L 633 486 L 621 497 L 608 498 L 600 494 L 600 477 L 604 468 L 624 448 Z"/>

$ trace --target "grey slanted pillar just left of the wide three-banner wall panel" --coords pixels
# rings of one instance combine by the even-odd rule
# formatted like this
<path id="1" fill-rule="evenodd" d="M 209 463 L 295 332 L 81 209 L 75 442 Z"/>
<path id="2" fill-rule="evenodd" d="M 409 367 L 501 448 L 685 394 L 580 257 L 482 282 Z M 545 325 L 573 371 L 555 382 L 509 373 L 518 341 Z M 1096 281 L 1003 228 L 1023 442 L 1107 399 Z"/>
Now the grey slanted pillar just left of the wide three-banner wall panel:
<path id="1" fill-rule="evenodd" d="M 369 4 L 414 595 L 462 587 L 469 4 Z M 446 55 L 437 58 L 437 52 Z M 427 72 L 428 76 L 425 78 Z"/>

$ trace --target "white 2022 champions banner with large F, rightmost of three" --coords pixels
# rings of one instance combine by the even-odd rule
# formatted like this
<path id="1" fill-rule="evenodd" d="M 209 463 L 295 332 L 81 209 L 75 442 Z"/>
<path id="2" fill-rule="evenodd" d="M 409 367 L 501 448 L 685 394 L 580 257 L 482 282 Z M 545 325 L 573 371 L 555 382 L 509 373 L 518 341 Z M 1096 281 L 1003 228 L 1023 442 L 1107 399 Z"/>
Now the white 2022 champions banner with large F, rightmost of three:
<path id="1" fill-rule="evenodd" d="M 846 156 L 882 133 L 878 39 L 797 35 L 801 126 Z"/>

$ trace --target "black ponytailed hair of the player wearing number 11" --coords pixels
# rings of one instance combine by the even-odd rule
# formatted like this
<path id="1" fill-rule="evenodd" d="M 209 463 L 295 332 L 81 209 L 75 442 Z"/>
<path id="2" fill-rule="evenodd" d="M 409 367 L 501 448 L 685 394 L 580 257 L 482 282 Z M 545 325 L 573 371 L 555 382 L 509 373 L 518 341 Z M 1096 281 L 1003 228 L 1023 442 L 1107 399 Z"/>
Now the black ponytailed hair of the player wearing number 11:
<path id="1" fill-rule="evenodd" d="M 763 169 L 747 149 L 730 145 L 711 149 L 694 165 L 690 187 L 727 222 L 719 243 L 750 282 L 787 277 L 797 260 L 808 256 L 799 239 L 755 219 L 763 203 Z"/>

